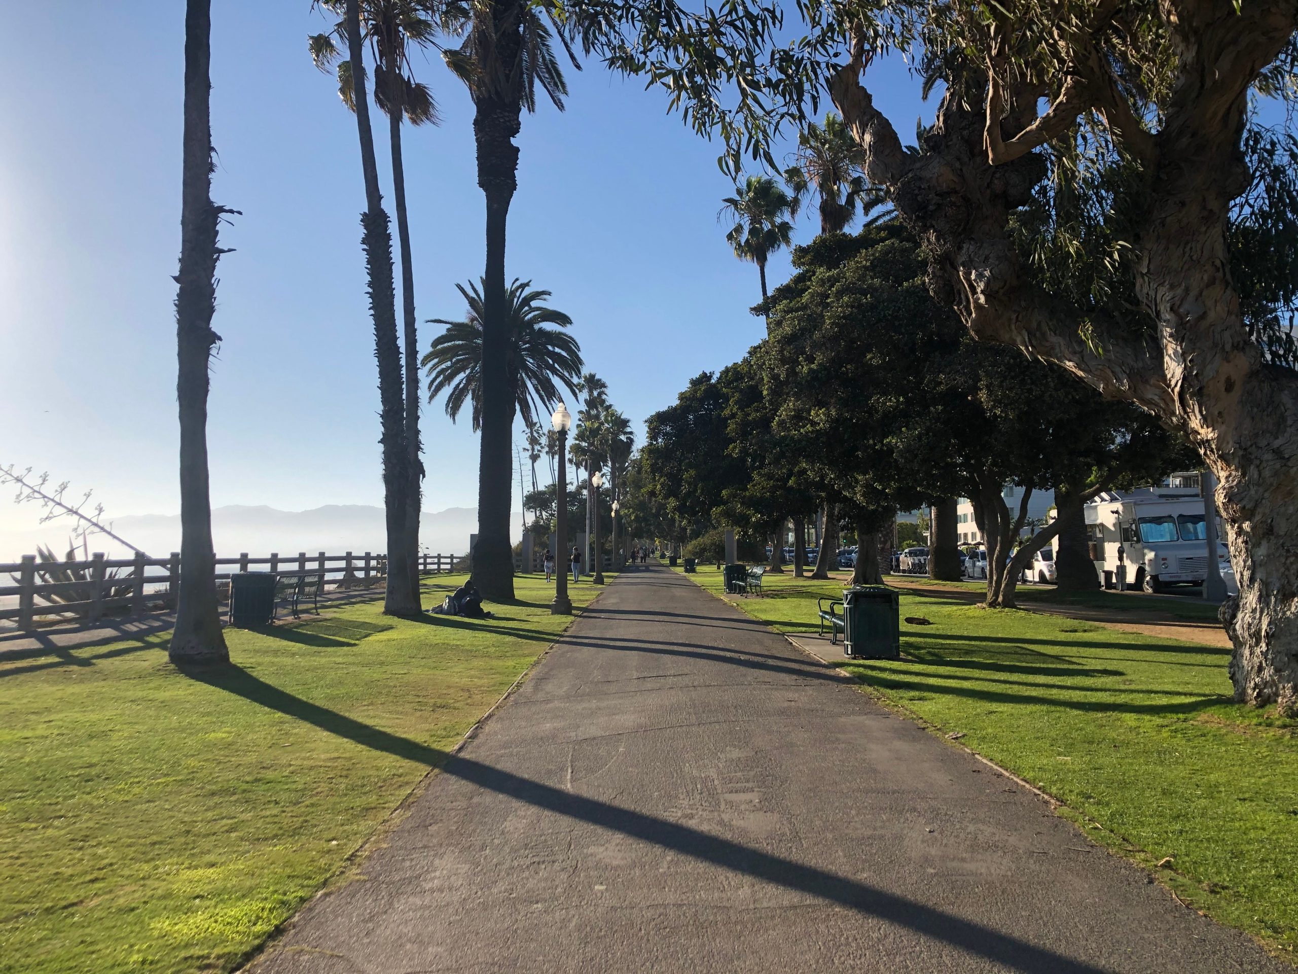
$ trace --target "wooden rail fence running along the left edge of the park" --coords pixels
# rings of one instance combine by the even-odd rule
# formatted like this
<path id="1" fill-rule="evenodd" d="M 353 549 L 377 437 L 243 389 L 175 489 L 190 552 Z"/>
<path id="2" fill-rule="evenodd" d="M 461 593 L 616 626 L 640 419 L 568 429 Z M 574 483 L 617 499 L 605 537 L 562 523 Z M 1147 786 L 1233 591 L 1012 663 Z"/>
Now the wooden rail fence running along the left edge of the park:
<path id="1" fill-rule="evenodd" d="M 463 556 L 459 557 L 463 560 Z M 222 571 L 222 566 L 227 570 Z M 130 571 L 113 574 L 125 569 Z M 419 556 L 419 574 L 454 570 L 454 555 Z M 270 557 L 253 558 L 241 552 L 234 558 L 217 558 L 217 586 L 218 591 L 223 590 L 223 599 L 228 597 L 232 571 L 324 575 L 326 584 L 335 590 L 366 588 L 387 575 L 387 556 L 371 552 L 319 552 L 312 556 L 306 552 L 297 552 L 296 556 L 271 552 Z M 93 623 L 114 609 L 140 616 L 149 608 L 171 608 L 180 581 L 180 553 L 151 558 L 138 552 L 134 558 L 105 558 L 103 552 L 96 552 L 88 561 L 38 561 L 35 555 L 25 555 L 22 561 L 0 564 L 0 579 L 5 577 L 16 584 L 0 584 L 0 619 L 17 619 L 19 629 L 32 629 L 42 616 L 83 616 Z M 67 577 L 71 579 L 55 581 Z M 14 596 L 17 608 L 4 608 Z"/>

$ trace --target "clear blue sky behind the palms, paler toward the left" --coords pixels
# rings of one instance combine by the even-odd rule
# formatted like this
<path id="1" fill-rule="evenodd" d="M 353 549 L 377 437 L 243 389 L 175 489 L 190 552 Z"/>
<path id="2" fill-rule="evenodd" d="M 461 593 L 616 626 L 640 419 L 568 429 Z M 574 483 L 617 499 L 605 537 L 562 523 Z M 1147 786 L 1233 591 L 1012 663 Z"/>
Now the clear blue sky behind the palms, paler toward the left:
<path id="1" fill-rule="evenodd" d="M 308 0 L 215 0 L 213 196 L 225 227 L 214 321 L 212 500 L 299 510 L 382 504 L 363 205 L 353 117 L 306 55 Z M 93 487 L 110 514 L 174 513 L 180 0 L 44 0 L 6 10 L 0 87 L 0 464 Z M 872 86 L 911 138 L 922 106 L 898 64 Z M 666 100 L 597 62 L 569 71 L 569 110 L 526 117 L 509 277 L 554 292 L 587 365 L 636 421 L 762 334 L 757 269 L 716 223 L 732 190 Z M 430 53 L 443 125 L 406 129 L 421 345 L 458 317 L 483 269 L 471 105 Z M 384 132 L 375 140 L 386 145 Z M 380 171 L 386 160 L 380 157 Z M 387 182 L 387 181 L 386 181 Z M 798 239 L 814 234 L 811 214 Z M 771 266 L 772 286 L 788 258 Z M 426 409 L 426 506 L 476 504 L 478 440 Z M 34 508 L 0 497 L 0 529 Z"/>

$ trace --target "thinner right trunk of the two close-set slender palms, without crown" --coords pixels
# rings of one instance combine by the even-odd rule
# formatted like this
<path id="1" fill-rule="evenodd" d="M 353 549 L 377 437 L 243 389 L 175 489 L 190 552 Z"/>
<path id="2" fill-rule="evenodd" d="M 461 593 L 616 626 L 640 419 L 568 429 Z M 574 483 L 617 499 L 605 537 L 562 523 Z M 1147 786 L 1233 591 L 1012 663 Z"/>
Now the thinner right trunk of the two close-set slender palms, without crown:
<path id="1" fill-rule="evenodd" d="M 395 70 L 389 78 L 396 78 Z M 410 223 L 406 219 L 405 161 L 401 153 L 401 92 L 393 81 L 389 94 L 388 134 L 392 145 L 392 200 L 397 210 L 397 242 L 401 248 L 401 313 L 405 323 L 405 439 L 406 439 L 406 530 L 410 599 L 422 610 L 419 596 L 419 503 L 423 464 L 419 461 L 419 336 L 414 318 L 414 258 L 410 256 Z"/>

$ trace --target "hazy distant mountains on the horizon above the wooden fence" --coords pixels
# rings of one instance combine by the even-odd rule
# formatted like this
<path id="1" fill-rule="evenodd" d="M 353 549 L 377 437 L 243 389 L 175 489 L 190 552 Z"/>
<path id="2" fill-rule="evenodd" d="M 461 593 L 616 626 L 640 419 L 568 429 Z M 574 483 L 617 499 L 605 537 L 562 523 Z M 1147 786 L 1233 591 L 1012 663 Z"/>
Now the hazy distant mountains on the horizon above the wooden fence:
<path id="1" fill-rule="evenodd" d="M 519 529 L 515 526 L 515 531 Z M 419 519 L 419 543 L 424 551 L 462 555 L 469 551 L 469 535 L 478 531 L 476 508 L 448 508 L 424 512 Z M 113 532 L 153 557 L 180 549 L 179 514 L 127 514 L 113 518 Z M 235 556 L 248 552 L 265 556 L 271 552 L 384 552 L 387 551 L 383 508 L 363 504 L 326 504 L 312 510 L 276 510 L 275 508 L 231 504 L 212 510 L 212 539 L 217 555 Z M 517 540 L 517 539 L 515 539 Z M 48 545 L 62 556 L 67 548 L 66 525 L 56 521 L 39 530 L 0 530 L 0 561 L 17 561 L 34 555 L 36 545 Z M 90 549 L 108 557 L 130 557 L 130 552 L 104 535 L 90 539 Z"/>

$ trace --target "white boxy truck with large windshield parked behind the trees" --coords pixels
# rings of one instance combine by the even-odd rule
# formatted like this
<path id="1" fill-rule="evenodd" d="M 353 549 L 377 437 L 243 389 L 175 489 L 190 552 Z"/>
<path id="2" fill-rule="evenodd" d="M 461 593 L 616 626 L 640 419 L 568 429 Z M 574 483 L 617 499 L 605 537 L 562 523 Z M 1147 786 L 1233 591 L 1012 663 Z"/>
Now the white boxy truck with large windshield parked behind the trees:
<path id="1" fill-rule="evenodd" d="M 1203 499 L 1197 488 L 1110 491 L 1086 504 L 1086 538 L 1105 588 L 1160 592 L 1172 584 L 1203 584 L 1208 547 Z M 1220 519 L 1218 522 L 1220 538 Z M 1229 591 L 1234 575 L 1224 544 L 1218 569 Z"/>

